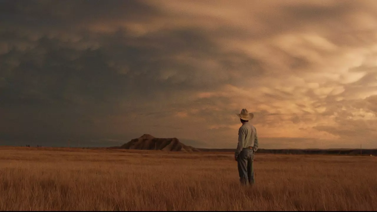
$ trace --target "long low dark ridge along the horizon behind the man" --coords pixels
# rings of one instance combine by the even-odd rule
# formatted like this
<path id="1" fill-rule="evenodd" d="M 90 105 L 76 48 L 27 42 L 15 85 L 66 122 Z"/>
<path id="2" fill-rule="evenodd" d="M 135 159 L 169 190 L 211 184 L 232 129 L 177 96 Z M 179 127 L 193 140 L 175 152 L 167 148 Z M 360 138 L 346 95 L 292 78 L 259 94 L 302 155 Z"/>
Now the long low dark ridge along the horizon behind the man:
<path id="1" fill-rule="evenodd" d="M 235 149 L 205 149 L 198 148 L 201 152 L 234 152 Z M 258 149 L 256 153 L 271 154 L 335 154 L 335 155 L 360 155 L 360 149 Z M 377 149 L 362 149 L 362 155 L 377 155 Z"/>

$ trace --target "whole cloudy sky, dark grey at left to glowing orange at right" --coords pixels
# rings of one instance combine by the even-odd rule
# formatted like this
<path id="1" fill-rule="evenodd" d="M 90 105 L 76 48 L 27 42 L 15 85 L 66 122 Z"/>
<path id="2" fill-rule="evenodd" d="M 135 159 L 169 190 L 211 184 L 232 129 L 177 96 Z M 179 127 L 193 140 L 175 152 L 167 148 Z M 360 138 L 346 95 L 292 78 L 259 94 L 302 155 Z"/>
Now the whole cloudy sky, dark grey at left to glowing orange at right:
<path id="1" fill-rule="evenodd" d="M 376 148 L 376 11 L 375 0 L 0 0 L 0 144 L 148 133 L 235 148 L 247 108 L 261 148 Z"/>

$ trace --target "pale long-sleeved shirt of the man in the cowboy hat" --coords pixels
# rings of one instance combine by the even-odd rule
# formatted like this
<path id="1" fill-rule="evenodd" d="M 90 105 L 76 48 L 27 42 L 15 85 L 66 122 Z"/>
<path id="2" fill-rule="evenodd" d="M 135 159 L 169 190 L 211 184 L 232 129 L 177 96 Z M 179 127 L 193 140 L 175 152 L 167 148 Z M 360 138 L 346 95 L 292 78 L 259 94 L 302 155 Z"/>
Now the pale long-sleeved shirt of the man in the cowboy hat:
<path id="1" fill-rule="evenodd" d="M 238 130 L 238 144 L 234 157 L 238 157 L 243 148 L 253 147 L 253 151 L 258 150 L 257 130 L 249 122 L 244 122 Z"/>

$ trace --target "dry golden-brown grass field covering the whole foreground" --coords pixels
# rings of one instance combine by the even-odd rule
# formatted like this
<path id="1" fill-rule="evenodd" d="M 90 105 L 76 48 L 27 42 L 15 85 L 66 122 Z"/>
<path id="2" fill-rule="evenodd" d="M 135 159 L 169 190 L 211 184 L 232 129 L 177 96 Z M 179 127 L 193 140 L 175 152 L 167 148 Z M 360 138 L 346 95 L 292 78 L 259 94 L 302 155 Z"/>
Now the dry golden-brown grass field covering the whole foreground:
<path id="1" fill-rule="evenodd" d="M 0 210 L 377 210 L 377 157 L 0 148 Z"/>

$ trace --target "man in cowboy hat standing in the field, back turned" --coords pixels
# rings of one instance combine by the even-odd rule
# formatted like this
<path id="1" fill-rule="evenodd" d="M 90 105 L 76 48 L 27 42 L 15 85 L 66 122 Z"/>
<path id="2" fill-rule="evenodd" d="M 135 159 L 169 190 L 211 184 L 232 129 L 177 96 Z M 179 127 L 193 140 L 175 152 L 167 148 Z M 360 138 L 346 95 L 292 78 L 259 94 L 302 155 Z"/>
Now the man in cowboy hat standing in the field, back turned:
<path id="1" fill-rule="evenodd" d="M 258 149 L 257 131 L 249 121 L 254 118 L 254 114 L 247 109 L 242 109 L 237 114 L 242 126 L 238 130 L 238 145 L 234 153 L 234 160 L 238 163 L 238 173 L 242 184 L 254 184 L 253 160 L 254 153 Z"/>

